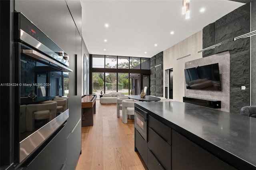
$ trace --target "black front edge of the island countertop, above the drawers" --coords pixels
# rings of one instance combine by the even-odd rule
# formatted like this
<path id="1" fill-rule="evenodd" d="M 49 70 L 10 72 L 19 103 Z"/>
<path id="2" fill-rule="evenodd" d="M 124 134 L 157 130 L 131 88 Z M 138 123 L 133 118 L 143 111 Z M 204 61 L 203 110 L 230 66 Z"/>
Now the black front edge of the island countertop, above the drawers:
<path id="1" fill-rule="evenodd" d="M 182 127 L 179 127 L 178 125 L 164 119 L 163 117 L 149 111 L 148 109 L 139 106 L 137 103 L 135 103 L 135 106 L 139 107 L 142 110 L 143 109 L 146 110 L 150 116 L 152 116 L 155 119 L 157 119 L 158 121 L 164 123 L 168 127 L 175 130 L 176 132 L 182 134 L 183 136 L 188 138 L 190 141 L 192 141 L 194 144 L 203 148 L 204 150 L 206 150 L 210 154 L 216 156 L 220 161 L 222 161 L 224 163 L 227 163 L 227 164 L 230 164 L 230 165 L 234 166 L 237 169 L 256 170 L 256 166 L 254 166 L 250 162 L 247 162 L 247 161 L 239 158 L 238 156 L 220 148 L 219 146 L 216 146 L 216 145 L 204 140 L 203 138 L 200 138 L 199 136 L 185 130 Z"/>

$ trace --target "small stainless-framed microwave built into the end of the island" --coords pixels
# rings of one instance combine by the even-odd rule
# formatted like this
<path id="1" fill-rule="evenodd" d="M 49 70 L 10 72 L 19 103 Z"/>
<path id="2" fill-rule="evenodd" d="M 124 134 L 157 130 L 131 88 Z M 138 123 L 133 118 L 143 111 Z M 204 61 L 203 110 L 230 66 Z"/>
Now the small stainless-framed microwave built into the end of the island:
<path id="1" fill-rule="evenodd" d="M 144 138 L 144 140 L 148 141 L 147 119 L 142 117 L 137 111 L 135 111 L 134 127 L 136 128 L 136 130 L 138 130 L 138 132 Z"/>

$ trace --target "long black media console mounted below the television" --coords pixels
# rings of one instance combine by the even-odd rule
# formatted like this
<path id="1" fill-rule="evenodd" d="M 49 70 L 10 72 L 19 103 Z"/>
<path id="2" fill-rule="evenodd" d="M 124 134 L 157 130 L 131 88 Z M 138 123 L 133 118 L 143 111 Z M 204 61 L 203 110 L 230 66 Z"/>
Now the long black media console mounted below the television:
<path id="1" fill-rule="evenodd" d="M 196 97 L 183 97 L 183 102 L 204 106 L 204 107 L 210 107 L 213 109 L 221 108 L 221 101 L 219 100 L 201 99 Z"/>

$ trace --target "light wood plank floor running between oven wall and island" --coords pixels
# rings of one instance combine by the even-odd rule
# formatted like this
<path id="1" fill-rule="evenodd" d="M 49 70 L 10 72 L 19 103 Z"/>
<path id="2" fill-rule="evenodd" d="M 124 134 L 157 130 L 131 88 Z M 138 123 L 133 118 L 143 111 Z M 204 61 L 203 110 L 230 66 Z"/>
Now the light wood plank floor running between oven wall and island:
<path id="1" fill-rule="evenodd" d="M 145 170 L 140 159 L 134 152 L 134 119 L 122 123 L 122 117 L 116 117 L 116 104 L 101 105 L 97 100 L 94 125 L 82 127 L 76 170 Z"/>

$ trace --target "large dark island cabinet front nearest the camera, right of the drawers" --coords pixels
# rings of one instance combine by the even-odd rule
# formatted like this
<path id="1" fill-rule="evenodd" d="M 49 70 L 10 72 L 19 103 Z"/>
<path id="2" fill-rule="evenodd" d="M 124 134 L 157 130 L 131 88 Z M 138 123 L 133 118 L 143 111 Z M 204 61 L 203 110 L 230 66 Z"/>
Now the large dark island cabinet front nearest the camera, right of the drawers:
<path id="1" fill-rule="evenodd" d="M 236 170 L 175 130 L 172 131 L 172 170 Z"/>

